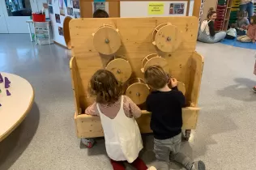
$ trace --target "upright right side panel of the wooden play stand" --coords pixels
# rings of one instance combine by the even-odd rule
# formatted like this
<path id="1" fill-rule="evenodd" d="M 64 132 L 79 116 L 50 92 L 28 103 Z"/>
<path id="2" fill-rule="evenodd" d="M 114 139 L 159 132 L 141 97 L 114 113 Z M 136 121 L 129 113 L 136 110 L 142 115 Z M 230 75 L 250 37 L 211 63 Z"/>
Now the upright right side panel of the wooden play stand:
<path id="1" fill-rule="evenodd" d="M 201 79 L 203 74 L 203 56 L 194 52 L 191 57 L 190 67 L 190 85 L 187 99 L 191 102 L 191 106 L 196 107 L 198 105 L 199 91 L 201 87 Z"/>

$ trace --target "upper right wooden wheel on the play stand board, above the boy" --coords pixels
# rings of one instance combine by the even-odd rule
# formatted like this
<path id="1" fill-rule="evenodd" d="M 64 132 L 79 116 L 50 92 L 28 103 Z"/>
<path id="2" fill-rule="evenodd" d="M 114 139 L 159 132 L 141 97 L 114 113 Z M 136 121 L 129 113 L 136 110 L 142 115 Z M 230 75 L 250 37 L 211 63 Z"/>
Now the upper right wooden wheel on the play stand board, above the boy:
<path id="1" fill-rule="evenodd" d="M 171 23 L 161 23 L 152 32 L 152 44 L 162 52 L 173 52 L 181 45 L 182 35 Z"/>

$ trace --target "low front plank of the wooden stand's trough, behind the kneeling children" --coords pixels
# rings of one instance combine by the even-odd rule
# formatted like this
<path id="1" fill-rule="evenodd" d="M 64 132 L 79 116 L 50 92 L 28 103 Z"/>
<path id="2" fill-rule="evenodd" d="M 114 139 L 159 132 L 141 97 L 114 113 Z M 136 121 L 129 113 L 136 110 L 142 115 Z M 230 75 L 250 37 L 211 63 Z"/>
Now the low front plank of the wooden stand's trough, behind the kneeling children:
<path id="1" fill-rule="evenodd" d="M 184 130 L 194 130 L 198 120 L 199 108 L 183 108 L 183 127 Z M 142 134 L 151 133 L 150 129 L 151 113 L 143 111 L 142 116 L 136 121 L 139 125 L 139 130 Z M 75 123 L 77 136 L 79 138 L 95 138 L 104 136 L 100 117 L 94 117 L 86 114 L 75 113 Z"/>

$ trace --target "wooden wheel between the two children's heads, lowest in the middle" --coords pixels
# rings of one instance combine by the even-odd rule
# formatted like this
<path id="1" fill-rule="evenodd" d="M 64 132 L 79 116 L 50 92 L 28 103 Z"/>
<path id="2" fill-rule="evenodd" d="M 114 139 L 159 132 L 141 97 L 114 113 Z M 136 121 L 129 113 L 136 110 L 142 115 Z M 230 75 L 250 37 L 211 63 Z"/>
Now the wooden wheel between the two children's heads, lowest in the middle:
<path id="1" fill-rule="evenodd" d="M 126 96 L 129 96 L 135 104 L 143 104 L 149 95 L 149 87 L 143 79 L 134 78 L 128 81 Z"/>

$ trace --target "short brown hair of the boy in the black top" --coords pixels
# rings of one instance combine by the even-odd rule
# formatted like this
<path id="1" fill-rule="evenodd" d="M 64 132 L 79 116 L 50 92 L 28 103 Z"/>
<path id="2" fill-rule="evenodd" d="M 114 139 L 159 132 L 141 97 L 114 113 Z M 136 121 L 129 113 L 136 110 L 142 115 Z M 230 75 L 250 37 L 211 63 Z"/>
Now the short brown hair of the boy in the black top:
<path id="1" fill-rule="evenodd" d="M 148 67 L 145 71 L 144 78 L 146 83 L 154 90 L 163 88 L 169 81 L 169 76 L 160 66 Z"/>

